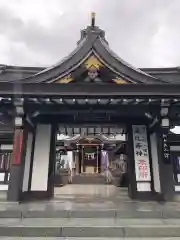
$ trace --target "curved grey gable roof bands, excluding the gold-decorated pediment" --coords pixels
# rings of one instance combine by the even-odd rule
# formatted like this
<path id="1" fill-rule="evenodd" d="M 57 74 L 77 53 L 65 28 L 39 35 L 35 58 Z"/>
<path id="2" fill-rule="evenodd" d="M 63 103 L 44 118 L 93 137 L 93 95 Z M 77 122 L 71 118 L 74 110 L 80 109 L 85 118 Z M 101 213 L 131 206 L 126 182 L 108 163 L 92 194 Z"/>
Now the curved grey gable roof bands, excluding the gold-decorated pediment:
<path id="1" fill-rule="evenodd" d="M 108 42 L 105 39 L 105 32 L 97 26 L 88 26 L 86 29 L 82 30 L 81 39 L 78 42 L 77 47 L 61 61 L 30 77 L 20 79 L 19 81 L 24 83 L 54 82 L 55 79 L 65 76 L 69 72 L 73 71 L 73 69 L 76 69 L 93 51 L 97 53 L 99 58 L 102 58 L 102 60 L 106 63 L 106 66 L 111 71 L 116 71 L 116 74 L 119 76 L 123 75 L 125 78 L 132 79 L 131 82 L 145 84 L 168 82 L 156 78 L 139 68 L 135 68 L 128 62 L 121 59 L 109 47 Z"/>

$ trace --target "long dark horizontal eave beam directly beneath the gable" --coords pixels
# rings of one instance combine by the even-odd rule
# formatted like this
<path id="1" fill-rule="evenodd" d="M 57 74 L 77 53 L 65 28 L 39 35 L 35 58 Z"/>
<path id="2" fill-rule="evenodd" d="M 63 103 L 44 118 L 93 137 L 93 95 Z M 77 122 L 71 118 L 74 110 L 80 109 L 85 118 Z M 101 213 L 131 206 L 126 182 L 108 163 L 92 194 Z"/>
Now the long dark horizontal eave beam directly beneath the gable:
<path id="1" fill-rule="evenodd" d="M 0 97 L 137 97 L 178 98 L 180 84 L 44 84 L 44 83 L 0 83 Z"/>

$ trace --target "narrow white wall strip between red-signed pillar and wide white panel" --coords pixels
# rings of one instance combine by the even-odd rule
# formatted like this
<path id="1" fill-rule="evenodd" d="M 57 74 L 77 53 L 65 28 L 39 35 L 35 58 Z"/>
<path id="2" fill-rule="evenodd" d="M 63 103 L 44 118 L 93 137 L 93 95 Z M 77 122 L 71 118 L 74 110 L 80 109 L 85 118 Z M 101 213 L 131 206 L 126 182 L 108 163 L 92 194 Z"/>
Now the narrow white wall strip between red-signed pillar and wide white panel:
<path id="1" fill-rule="evenodd" d="M 28 133 L 22 191 L 28 191 L 33 134 Z"/>

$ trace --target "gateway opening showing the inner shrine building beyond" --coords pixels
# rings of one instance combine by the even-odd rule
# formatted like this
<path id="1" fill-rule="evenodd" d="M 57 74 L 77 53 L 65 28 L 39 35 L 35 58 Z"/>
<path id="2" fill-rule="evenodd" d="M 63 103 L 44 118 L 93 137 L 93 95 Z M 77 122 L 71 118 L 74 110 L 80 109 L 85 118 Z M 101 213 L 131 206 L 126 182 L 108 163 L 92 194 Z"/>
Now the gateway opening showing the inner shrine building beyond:
<path id="1" fill-rule="evenodd" d="M 70 128 L 70 127 L 69 127 Z M 125 133 L 78 134 L 79 130 L 58 132 L 56 145 L 55 186 L 71 184 L 112 184 L 128 187 L 128 174 L 121 173 L 118 161 L 126 154 Z M 91 128 L 92 132 L 92 126 Z M 117 128 L 117 127 L 116 127 Z M 62 130 L 62 126 L 59 127 Z M 103 130 L 103 128 L 101 128 Z M 89 129 L 87 129 L 88 132 Z M 67 132 L 76 134 L 67 135 Z M 112 127 L 111 127 L 112 131 Z M 77 133 L 78 132 L 78 133 Z M 90 130 L 89 130 L 90 132 Z M 87 134 L 87 133 L 86 133 Z M 107 153 L 104 159 L 102 152 Z M 124 159 L 127 161 L 127 159 Z M 108 172 L 108 174 L 107 174 Z M 71 176 L 70 176 L 71 174 Z M 122 176 L 123 175 L 123 176 Z M 107 180 L 108 178 L 108 180 Z"/>

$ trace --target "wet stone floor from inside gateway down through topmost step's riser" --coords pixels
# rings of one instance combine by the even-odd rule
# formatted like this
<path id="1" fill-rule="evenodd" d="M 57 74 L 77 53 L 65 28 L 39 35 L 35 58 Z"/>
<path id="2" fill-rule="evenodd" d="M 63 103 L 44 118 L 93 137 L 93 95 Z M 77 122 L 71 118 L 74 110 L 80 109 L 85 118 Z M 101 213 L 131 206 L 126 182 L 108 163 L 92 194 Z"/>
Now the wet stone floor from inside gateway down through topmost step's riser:
<path id="1" fill-rule="evenodd" d="M 52 201 L 0 202 L 0 218 L 180 218 L 180 202 L 132 201 L 114 186 L 68 185 L 55 189 Z"/>

